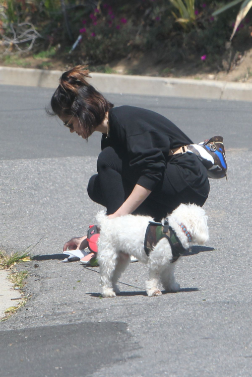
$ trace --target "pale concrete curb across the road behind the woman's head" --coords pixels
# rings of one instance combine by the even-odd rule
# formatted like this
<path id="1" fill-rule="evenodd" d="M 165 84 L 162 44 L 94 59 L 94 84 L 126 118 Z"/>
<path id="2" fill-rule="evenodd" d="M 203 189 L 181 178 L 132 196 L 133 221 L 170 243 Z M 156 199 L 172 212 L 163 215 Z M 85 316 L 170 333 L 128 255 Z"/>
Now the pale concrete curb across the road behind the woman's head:
<path id="1" fill-rule="evenodd" d="M 0 67 L 0 84 L 56 88 L 62 71 Z M 103 93 L 252 101 L 252 84 L 92 73 L 92 85 Z"/>

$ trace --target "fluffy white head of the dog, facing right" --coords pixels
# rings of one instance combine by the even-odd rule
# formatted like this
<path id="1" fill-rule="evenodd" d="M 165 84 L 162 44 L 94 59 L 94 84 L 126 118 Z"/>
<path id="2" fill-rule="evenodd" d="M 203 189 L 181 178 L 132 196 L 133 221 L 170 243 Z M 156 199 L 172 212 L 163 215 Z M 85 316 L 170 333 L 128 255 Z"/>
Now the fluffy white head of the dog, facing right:
<path id="1" fill-rule="evenodd" d="M 208 240 L 208 226 L 206 215 L 203 208 L 196 204 L 180 204 L 168 217 L 170 226 L 174 229 L 183 246 L 188 248 L 193 245 L 203 245 Z M 192 242 L 184 237 L 179 224 L 185 225 L 186 230 L 190 233 Z M 183 239 L 183 241 L 181 240 Z M 186 244 L 186 246 L 184 245 Z"/>

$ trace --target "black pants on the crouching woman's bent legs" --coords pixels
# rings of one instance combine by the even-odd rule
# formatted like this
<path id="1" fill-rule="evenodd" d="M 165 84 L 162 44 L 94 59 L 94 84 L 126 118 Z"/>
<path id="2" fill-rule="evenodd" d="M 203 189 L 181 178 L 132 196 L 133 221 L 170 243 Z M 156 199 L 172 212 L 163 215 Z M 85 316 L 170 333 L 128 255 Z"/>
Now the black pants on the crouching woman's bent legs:
<path id="1" fill-rule="evenodd" d="M 127 163 L 122 161 L 112 147 L 106 147 L 97 160 L 97 172 L 88 184 L 88 195 L 96 203 L 107 208 L 107 214 L 114 213 L 128 198 L 134 189 L 138 177 L 129 171 Z M 207 182 L 208 183 L 208 182 Z M 149 215 L 156 220 L 166 217 L 181 203 L 195 203 L 202 206 L 206 199 L 208 187 L 201 193 L 190 186 L 176 192 L 166 176 L 157 189 L 151 192 L 147 199 L 135 210 L 134 214 Z"/>

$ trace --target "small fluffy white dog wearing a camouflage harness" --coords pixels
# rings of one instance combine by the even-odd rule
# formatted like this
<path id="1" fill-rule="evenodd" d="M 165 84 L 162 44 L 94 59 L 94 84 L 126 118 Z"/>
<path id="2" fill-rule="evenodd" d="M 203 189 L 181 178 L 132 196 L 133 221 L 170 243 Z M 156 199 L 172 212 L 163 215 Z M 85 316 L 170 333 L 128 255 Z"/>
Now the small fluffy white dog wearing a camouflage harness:
<path id="1" fill-rule="evenodd" d="M 104 211 L 99 212 L 96 219 L 101 231 L 97 258 L 103 297 L 114 297 L 119 293 L 116 283 L 128 266 L 130 255 L 147 264 L 149 268 L 149 280 L 146 281 L 148 296 L 162 294 L 160 282 L 165 290 L 178 291 L 180 286 L 174 277 L 176 260 L 191 246 L 203 245 L 208 240 L 207 218 L 201 207 L 195 204 L 180 204 L 167 217 L 170 239 L 164 237 L 156 246 L 151 245 L 151 251 L 149 249 L 147 255 L 145 236 L 149 221 L 152 221 L 151 217 L 125 215 L 109 219 Z M 168 226 L 165 231 L 167 228 Z"/>

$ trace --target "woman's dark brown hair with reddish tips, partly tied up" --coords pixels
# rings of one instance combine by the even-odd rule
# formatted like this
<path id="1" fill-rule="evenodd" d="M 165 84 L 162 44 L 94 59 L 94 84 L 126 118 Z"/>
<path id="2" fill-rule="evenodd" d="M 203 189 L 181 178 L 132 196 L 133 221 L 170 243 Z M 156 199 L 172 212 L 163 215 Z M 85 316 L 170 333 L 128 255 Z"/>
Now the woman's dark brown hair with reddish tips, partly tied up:
<path id="1" fill-rule="evenodd" d="M 75 115 L 81 126 L 91 131 L 93 127 L 101 124 L 113 104 L 86 81 L 86 78 L 90 77 L 86 67 L 77 65 L 62 74 L 59 86 L 51 98 L 50 108 L 46 111 L 49 115 L 59 117 Z"/>

